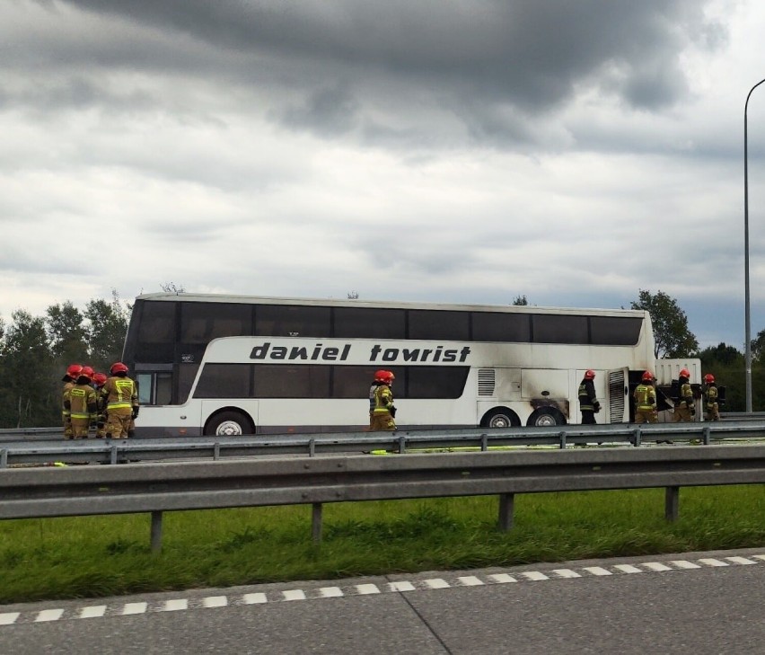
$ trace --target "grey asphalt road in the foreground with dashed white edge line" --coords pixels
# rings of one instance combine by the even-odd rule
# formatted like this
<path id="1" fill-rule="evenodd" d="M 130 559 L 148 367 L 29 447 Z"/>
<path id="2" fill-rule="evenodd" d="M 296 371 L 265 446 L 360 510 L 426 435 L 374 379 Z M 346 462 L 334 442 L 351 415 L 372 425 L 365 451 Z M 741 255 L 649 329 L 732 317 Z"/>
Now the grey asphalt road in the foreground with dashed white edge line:
<path id="1" fill-rule="evenodd" d="M 765 548 L 0 606 L 0 652 L 765 651 Z"/>

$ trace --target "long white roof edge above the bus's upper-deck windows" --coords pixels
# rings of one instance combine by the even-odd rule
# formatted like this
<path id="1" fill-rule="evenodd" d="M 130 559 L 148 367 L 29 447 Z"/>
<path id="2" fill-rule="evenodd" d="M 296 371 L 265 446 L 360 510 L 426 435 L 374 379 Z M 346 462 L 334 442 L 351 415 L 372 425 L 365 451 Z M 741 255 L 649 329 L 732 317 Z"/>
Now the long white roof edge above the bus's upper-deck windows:
<path id="1" fill-rule="evenodd" d="M 269 296 L 238 296 L 228 294 L 195 293 L 153 293 L 136 297 L 136 301 L 169 301 L 190 303 L 234 303 L 242 305 L 316 305 L 328 307 L 374 307 L 389 309 L 428 309 L 453 312 L 513 312 L 518 314 L 586 314 L 603 316 L 640 316 L 645 318 L 648 312 L 643 309 L 608 309 L 585 307 L 539 307 L 536 305 L 470 305 L 455 303 L 428 303 L 400 300 L 357 300 L 338 298 L 300 298 Z"/>

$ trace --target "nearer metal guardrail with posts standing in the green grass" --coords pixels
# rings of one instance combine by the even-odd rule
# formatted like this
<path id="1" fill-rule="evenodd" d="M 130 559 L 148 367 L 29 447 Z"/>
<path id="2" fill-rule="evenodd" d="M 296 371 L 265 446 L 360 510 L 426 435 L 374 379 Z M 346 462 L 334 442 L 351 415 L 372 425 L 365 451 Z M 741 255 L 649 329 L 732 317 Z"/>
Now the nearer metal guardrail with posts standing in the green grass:
<path id="1" fill-rule="evenodd" d="M 665 487 L 678 516 L 681 486 L 765 482 L 765 446 L 591 448 L 407 457 L 249 458 L 156 465 L 0 471 L 0 518 L 151 512 L 158 550 L 162 513 L 312 504 L 321 538 L 327 502 L 499 496 L 499 527 L 513 524 L 514 494 Z"/>

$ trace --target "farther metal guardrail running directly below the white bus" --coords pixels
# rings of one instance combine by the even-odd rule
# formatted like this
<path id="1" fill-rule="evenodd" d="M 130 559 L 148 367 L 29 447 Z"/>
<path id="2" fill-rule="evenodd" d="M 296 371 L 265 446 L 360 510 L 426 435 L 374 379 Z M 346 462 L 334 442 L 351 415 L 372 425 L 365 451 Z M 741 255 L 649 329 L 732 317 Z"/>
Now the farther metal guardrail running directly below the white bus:
<path id="1" fill-rule="evenodd" d="M 127 461 L 245 456 L 480 449 L 585 444 L 641 446 L 657 441 L 695 441 L 708 446 L 732 439 L 765 438 L 765 420 L 698 423 L 572 425 L 545 428 L 340 432 L 251 437 L 17 440 L 0 442 L 0 469 L 13 465 L 118 464 Z"/>

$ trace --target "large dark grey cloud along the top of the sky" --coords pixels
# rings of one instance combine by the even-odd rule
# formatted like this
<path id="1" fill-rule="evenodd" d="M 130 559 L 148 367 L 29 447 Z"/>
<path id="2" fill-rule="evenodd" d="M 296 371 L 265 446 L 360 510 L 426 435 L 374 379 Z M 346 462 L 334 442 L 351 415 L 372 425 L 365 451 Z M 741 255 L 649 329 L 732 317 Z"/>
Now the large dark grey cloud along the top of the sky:
<path id="1" fill-rule="evenodd" d="M 84 46 L 80 57 L 91 63 L 179 67 L 189 75 L 199 66 L 239 84 L 292 88 L 303 100 L 276 102 L 271 115 L 287 127 L 330 136 L 379 106 L 382 89 L 391 116 L 423 102 L 441 111 L 453 108 L 473 139 L 500 134 L 509 143 L 523 141 L 523 117 L 555 111 L 577 84 L 594 84 L 609 67 L 620 75 L 606 93 L 655 111 L 687 93 L 681 50 L 690 42 L 714 49 L 725 40 L 723 27 L 705 18 L 698 0 L 66 2 L 147 31 L 141 44 L 147 47 L 130 49 L 117 40 L 115 54 L 103 45 L 97 51 Z M 160 33 L 170 42 L 161 41 Z M 43 48 L 52 58 L 58 48 L 70 52 L 73 45 Z M 365 134 L 384 136 L 368 116 L 364 124 Z"/>

